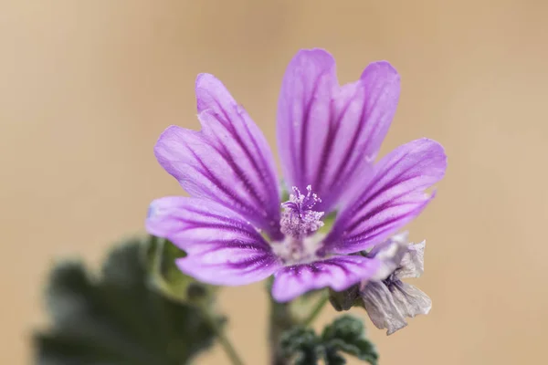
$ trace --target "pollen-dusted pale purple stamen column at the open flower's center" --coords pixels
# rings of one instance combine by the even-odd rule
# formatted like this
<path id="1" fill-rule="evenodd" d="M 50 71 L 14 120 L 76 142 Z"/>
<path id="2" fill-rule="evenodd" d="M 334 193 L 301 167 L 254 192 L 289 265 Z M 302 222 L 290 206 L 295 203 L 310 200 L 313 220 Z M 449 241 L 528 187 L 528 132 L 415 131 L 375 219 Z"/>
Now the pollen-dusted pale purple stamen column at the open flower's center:
<path id="1" fill-rule="evenodd" d="M 321 199 L 312 193 L 311 185 L 306 187 L 307 194 L 300 193 L 293 186 L 290 200 L 282 203 L 283 212 L 279 222 L 281 233 L 286 235 L 283 242 L 273 245 L 274 251 L 286 263 L 301 263 L 315 257 L 321 237 L 314 235 L 321 226 L 323 212 L 314 211 L 312 208 Z"/>

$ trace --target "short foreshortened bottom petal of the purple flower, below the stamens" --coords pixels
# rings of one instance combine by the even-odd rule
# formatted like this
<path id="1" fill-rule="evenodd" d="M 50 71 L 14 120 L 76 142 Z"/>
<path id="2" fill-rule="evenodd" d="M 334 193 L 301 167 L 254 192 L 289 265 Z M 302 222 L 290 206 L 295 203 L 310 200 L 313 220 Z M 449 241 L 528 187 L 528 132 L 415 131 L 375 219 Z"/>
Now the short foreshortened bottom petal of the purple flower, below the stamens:
<path id="1" fill-rule="evenodd" d="M 374 276 L 380 262 L 361 255 L 336 256 L 310 264 L 287 266 L 274 274 L 272 297 L 287 302 L 323 287 L 342 291 Z"/>

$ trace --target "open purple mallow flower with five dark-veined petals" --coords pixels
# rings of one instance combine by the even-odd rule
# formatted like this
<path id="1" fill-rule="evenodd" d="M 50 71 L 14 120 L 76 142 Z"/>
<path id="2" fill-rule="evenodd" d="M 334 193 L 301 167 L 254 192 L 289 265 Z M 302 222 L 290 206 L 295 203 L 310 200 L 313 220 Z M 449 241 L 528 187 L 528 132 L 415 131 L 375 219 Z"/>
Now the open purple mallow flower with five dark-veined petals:
<path id="1" fill-rule="evenodd" d="M 288 301 L 367 280 L 382 261 L 351 254 L 415 218 L 446 169 L 443 148 L 427 139 L 374 163 L 399 97 L 390 64 L 373 63 L 340 86 L 329 53 L 302 50 L 279 97 L 279 154 L 292 192 L 282 212 L 272 152 L 246 110 L 212 75 L 198 76 L 195 90 L 202 130 L 169 127 L 154 149 L 192 197 L 155 200 L 146 226 L 184 249 L 177 265 L 206 283 L 236 286 L 274 275 L 273 297 Z M 324 235 L 321 219 L 333 213 Z"/>

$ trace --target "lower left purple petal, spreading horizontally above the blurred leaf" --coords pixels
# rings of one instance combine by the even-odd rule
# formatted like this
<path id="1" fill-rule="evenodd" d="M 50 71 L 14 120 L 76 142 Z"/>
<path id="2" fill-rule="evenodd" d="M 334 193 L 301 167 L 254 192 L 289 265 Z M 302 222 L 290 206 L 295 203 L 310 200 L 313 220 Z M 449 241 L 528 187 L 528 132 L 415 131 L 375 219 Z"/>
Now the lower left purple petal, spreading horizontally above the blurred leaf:
<path id="1" fill-rule="evenodd" d="M 213 285 L 237 286 L 262 280 L 279 259 L 242 216 L 204 199 L 165 197 L 153 201 L 146 220 L 151 235 L 167 238 L 186 251 L 179 268 Z"/>

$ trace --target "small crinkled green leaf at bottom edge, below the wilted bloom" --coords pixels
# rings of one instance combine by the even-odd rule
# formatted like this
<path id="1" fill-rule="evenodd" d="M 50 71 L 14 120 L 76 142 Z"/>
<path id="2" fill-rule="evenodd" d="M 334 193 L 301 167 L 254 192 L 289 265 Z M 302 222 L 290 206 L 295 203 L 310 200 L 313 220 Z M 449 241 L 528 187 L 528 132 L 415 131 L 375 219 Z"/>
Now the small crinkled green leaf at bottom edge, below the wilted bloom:
<path id="1" fill-rule="evenodd" d="M 314 365 L 323 360 L 326 365 L 342 365 L 342 353 L 377 365 L 374 345 L 364 338 L 364 324 L 358 318 L 343 316 L 323 329 L 321 336 L 311 328 L 292 328 L 280 341 L 283 356 L 294 365 Z"/>

